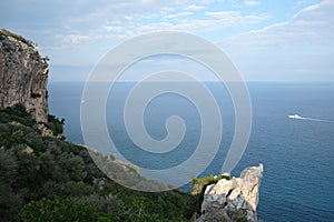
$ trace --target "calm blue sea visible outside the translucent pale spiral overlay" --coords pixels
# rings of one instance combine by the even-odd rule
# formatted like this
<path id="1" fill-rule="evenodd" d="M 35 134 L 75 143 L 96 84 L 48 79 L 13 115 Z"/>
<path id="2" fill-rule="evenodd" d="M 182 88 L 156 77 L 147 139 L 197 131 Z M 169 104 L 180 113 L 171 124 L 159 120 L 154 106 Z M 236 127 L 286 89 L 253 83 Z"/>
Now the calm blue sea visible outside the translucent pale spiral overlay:
<path id="1" fill-rule="evenodd" d="M 206 83 L 222 111 L 223 140 L 202 175 L 219 174 L 234 132 L 234 108 L 220 83 Z M 334 83 L 248 83 L 253 127 L 248 147 L 232 174 L 264 163 L 258 218 L 263 221 L 334 221 Z M 199 113 L 191 102 L 167 93 L 145 111 L 147 132 L 166 137 L 165 121 L 179 115 L 187 127 L 177 149 L 161 157 L 143 153 L 131 143 L 122 122 L 122 105 L 132 83 L 118 83 L 108 97 L 107 124 L 121 153 L 144 168 L 164 169 L 185 161 L 200 135 Z M 80 129 L 82 82 L 51 82 L 50 112 L 66 119 L 66 137 L 84 143 Z M 299 114 L 305 119 L 288 119 Z M 213 132 L 214 133 L 214 132 Z M 138 160 L 138 155 L 144 157 Z M 149 163 L 149 164 L 148 164 Z M 189 184 L 183 188 L 189 189 Z"/>

